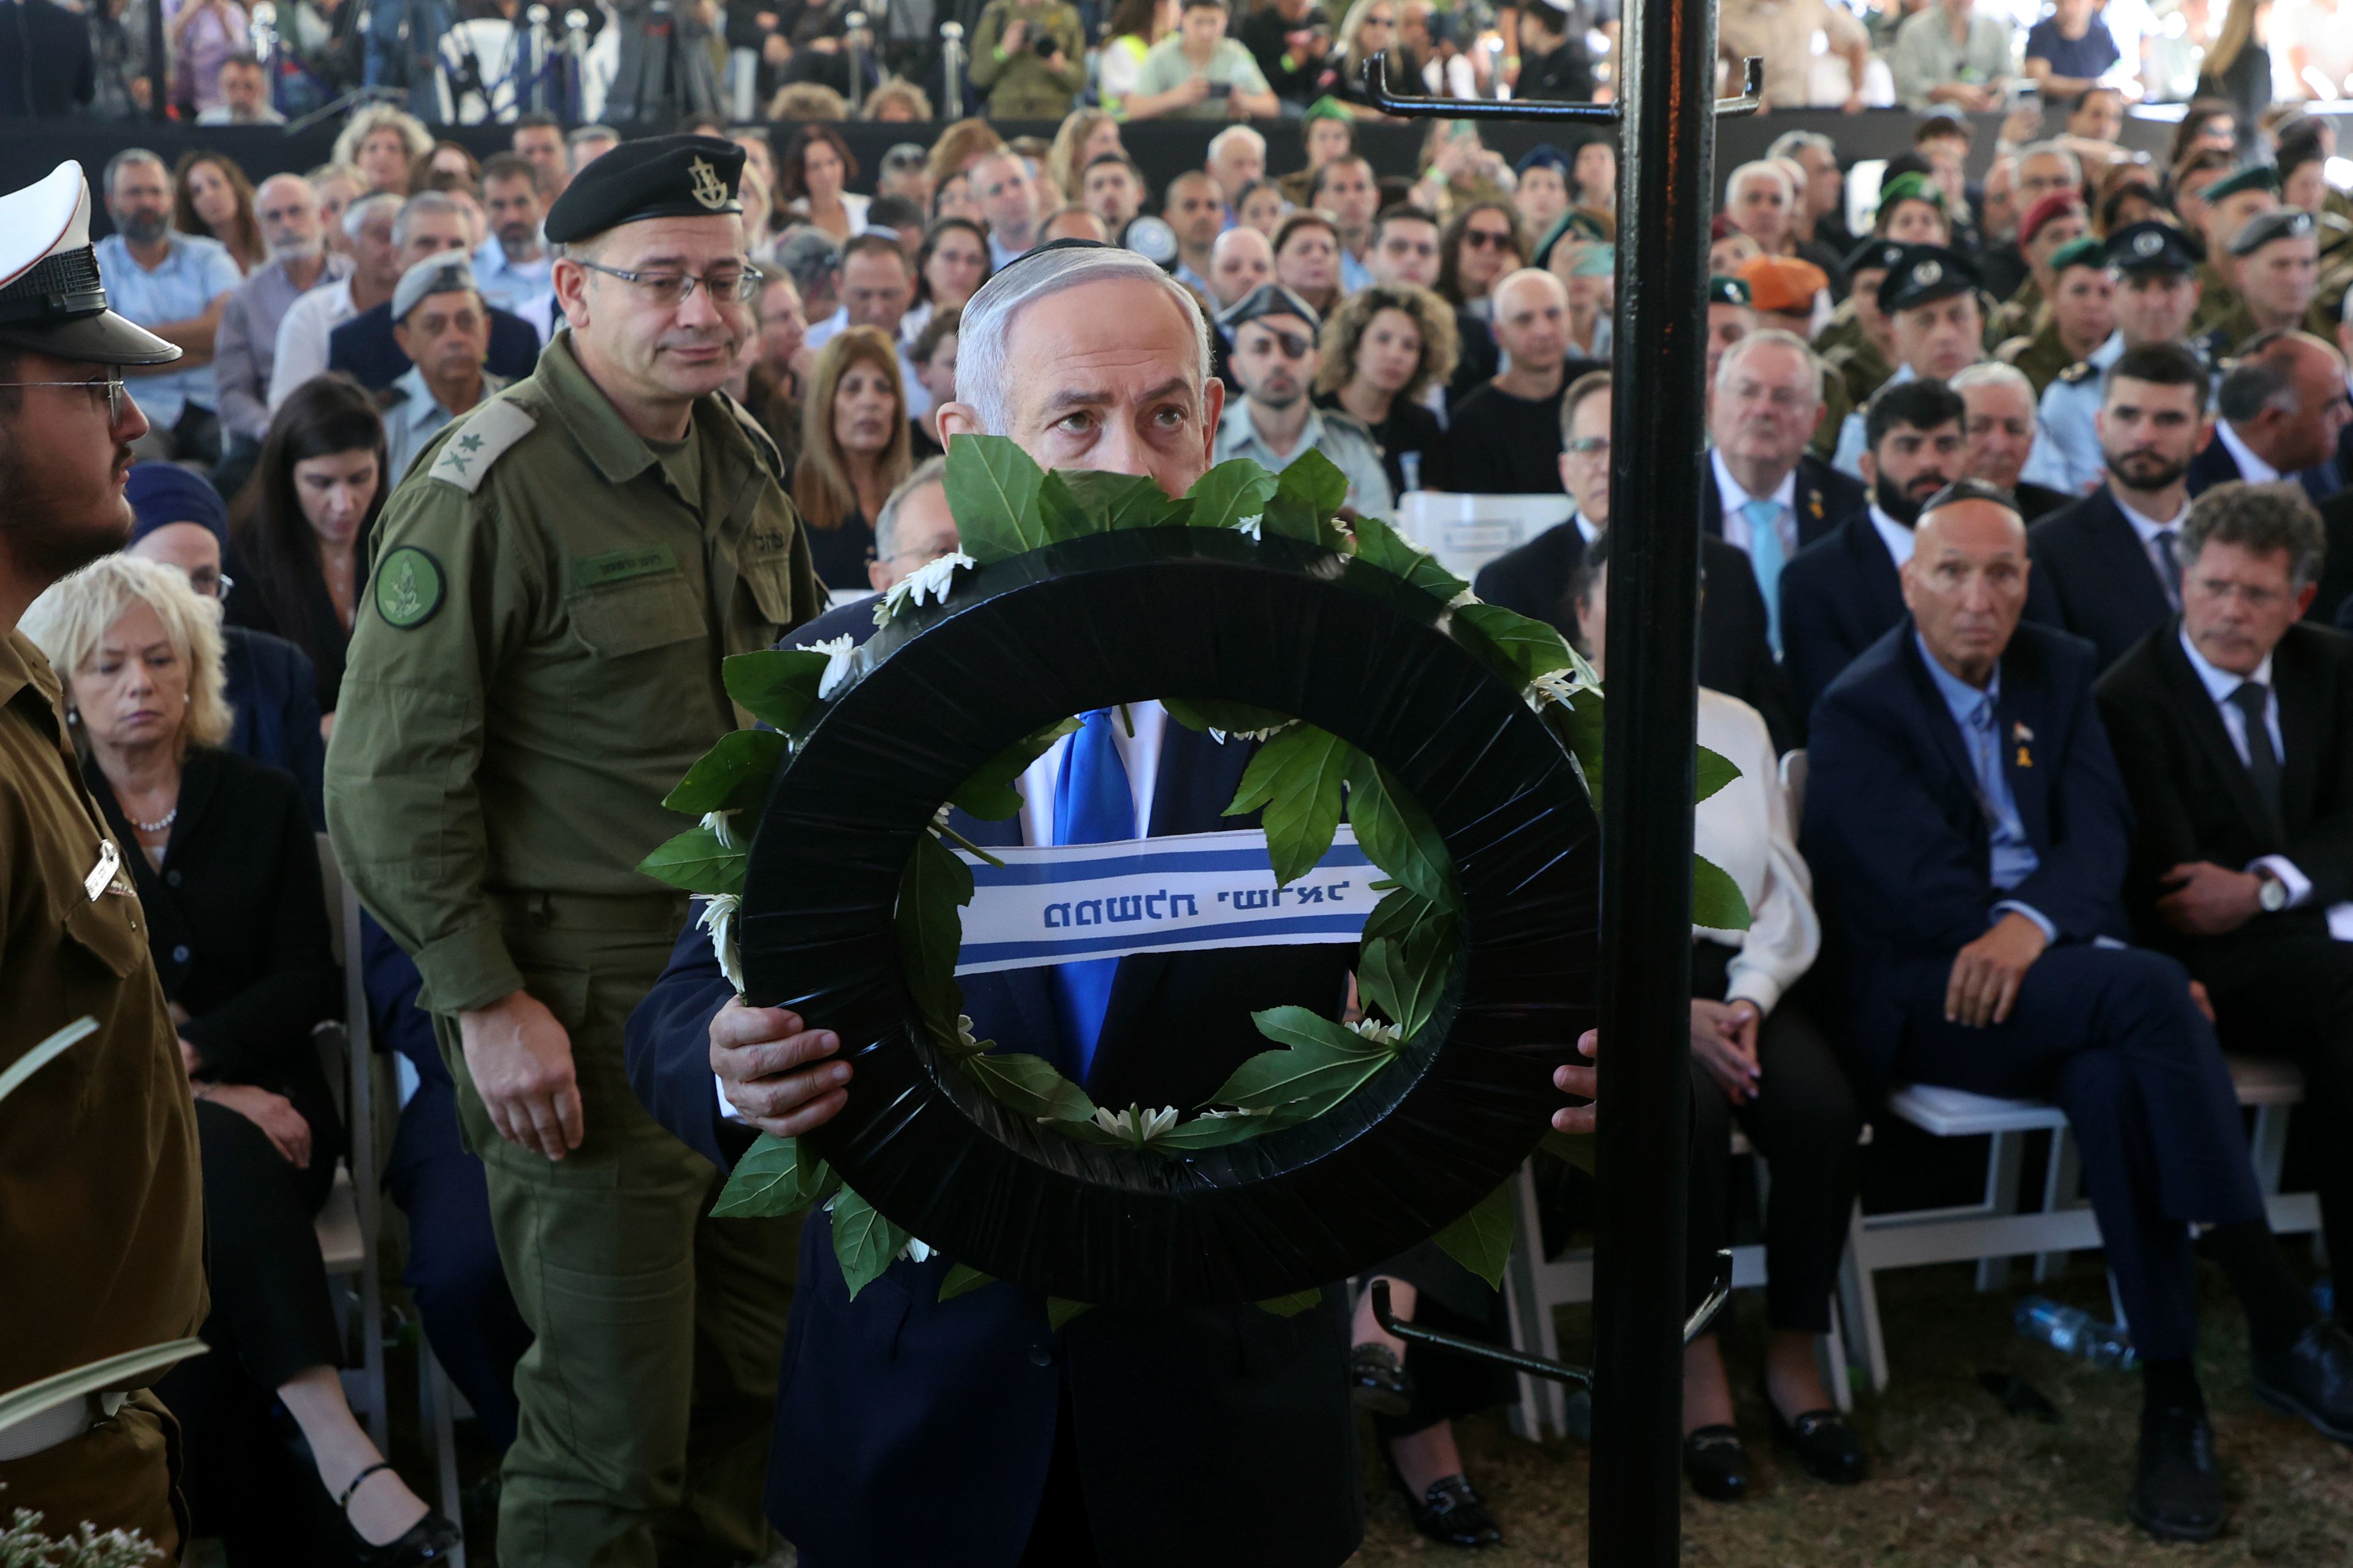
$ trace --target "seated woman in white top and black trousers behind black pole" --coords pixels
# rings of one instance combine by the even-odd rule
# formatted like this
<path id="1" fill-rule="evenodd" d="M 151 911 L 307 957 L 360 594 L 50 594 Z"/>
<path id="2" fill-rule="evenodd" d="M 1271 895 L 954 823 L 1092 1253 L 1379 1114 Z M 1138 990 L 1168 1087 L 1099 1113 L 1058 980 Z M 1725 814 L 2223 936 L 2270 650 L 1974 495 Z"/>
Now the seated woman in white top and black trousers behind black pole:
<path id="1" fill-rule="evenodd" d="M 1586 550 L 1569 585 L 1579 646 L 1602 670 L 1609 536 Z M 1821 1032 L 1788 990 L 1821 950 L 1814 877 L 1798 856 L 1779 759 L 1758 710 L 1699 691 L 1699 743 L 1739 778 L 1699 804 L 1697 849 L 1748 898 L 1748 931 L 1692 931 L 1692 1222 L 1685 1253 L 1697 1305 L 1727 1246 L 1732 1121 L 1772 1168 L 1765 1206 L 1765 1413 L 1774 1441 L 1814 1479 L 1864 1479 L 1861 1439 L 1821 1387 L 1817 1347 L 1831 1331 L 1831 1288 L 1854 1211 L 1864 1112 Z M 1748 1495 L 1748 1458 L 1732 1427 L 1732 1389 L 1715 1333 L 1682 1356 L 1682 1472 L 1701 1497 Z"/>

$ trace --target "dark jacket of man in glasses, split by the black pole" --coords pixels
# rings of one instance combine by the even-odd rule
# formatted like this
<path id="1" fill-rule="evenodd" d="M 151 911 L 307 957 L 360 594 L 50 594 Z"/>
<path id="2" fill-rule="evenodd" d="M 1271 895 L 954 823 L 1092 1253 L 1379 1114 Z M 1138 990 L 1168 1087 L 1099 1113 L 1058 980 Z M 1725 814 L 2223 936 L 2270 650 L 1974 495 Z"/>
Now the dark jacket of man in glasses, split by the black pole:
<path id="1" fill-rule="evenodd" d="M 1569 520 L 1480 567 L 1471 590 L 1489 604 L 1548 621 L 1574 639 L 1577 616 L 1567 599 L 1584 559 L 1586 536 Z M 1699 684 L 1737 696 L 1765 715 L 1774 750 L 1795 748 L 1802 733 L 1798 708 L 1765 639 L 1765 595 L 1758 592 L 1748 552 L 1708 536 L 1699 541 L 1699 569 L 1706 578 L 1699 597 Z"/>

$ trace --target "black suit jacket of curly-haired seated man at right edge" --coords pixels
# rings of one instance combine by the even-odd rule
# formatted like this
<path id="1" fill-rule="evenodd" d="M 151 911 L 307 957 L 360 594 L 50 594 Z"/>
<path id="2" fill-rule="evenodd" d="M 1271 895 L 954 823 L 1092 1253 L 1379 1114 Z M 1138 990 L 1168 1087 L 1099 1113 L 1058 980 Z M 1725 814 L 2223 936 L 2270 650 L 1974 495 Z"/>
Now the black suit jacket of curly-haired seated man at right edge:
<path id="1" fill-rule="evenodd" d="M 2285 752 L 2285 820 L 2271 823 L 2179 630 L 2167 618 L 2101 677 L 2099 712 L 2139 816 L 2125 907 L 2141 940 L 2205 973 L 2231 969 L 2273 922 L 2318 922 L 2332 903 L 2353 898 L 2353 637 L 2299 623 L 2271 654 Z M 2221 938 L 2184 936 L 2155 917 L 2174 865 L 2212 860 L 2238 870 L 2259 856 L 2287 856 L 2311 877 L 2311 900 Z"/>

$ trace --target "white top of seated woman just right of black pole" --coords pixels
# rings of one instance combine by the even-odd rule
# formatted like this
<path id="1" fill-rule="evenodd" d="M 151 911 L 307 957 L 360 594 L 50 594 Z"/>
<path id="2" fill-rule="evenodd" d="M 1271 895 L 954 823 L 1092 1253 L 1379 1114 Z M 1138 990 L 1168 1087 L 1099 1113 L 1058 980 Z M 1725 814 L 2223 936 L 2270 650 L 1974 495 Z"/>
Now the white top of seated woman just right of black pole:
<path id="1" fill-rule="evenodd" d="M 1699 743 L 1722 752 L 1741 771 L 1699 802 L 1694 846 L 1739 884 L 1748 900 L 1751 926 L 1748 931 L 1694 926 L 1694 936 L 1739 947 L 1729 964 L 1725 1001 L 1753 1001 L 1760 1013 L 1772 1013 L 1781 992 L 1795 985 L 1821 952 L 1814 875 L 1798 853 L 1788 797 L 1781 795 L 1779 757 L 1758 710 L 1701 686 Z"/>

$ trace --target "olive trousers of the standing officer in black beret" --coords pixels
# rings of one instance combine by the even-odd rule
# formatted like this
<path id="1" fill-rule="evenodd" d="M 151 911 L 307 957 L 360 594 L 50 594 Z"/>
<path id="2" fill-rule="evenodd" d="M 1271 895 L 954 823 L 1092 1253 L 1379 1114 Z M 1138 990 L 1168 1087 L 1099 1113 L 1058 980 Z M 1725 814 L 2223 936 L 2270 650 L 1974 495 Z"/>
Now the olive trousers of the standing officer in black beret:
<path id="1" fill-rule="evenodd" d="M 489 1175 L 506 1281 L 536 1335 L 499 1502 L 501 1568 L 718 1568 L 767 1556 L 760 1509 L 800 1220 L 711 1220 L 720 1173 L 645 1114 L 621 1025 L 671 957 L 642 900 L 508 910 L 525 987 L 572 1034 L 586 1135 L 506 1143 L 435 1018 L 466 1143 Z M 595 905 L 638 929 L 584 931 Z M 619 914 L 619 910 L 614 912 Z M 619 919 L 614 922 L 619 924 Z"/>

